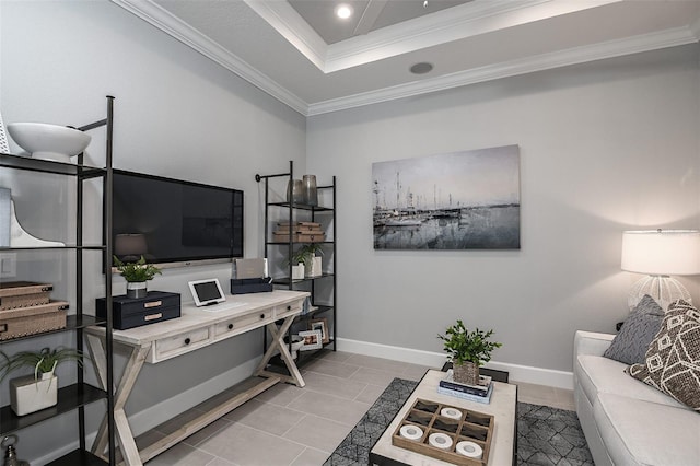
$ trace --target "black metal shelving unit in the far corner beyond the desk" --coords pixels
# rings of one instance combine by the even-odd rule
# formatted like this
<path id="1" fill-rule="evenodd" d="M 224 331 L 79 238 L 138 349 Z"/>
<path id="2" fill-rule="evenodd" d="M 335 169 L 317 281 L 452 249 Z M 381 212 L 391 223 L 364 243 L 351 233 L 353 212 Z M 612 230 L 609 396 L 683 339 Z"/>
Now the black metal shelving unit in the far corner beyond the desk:
<path id="1" fill-rule="evenodd" d="M 293 199 L 290 199 L 289 201 L 277 201 L 277 200 L 270 201 L 269 182 L 270 179 L 273 179 L 273 178 L 284 178 L 288 182 L 294 179 L 294 162 L 293 161 L 289 162 L 289 172 L 287 173 L 278 173 L 273 175 L 255 175 L 256 182 L 265 183 L 265 257 L 270 257 L 270 253 L 272 248 L 284 248 L 285 253 L 289 256 L 291 256 L 292 252 L 295 248 L 301 247 L 304 244 L 308 244 L 308 243 L 294 242 L 293 229 L 290 229 L 289 241 L 287 242 L 270 241 L 270 236 L 271 236 L 270 232 L 272 231 L 271 222 L 273 221 L 272 220 L 273 218 L 281 220 L 281 219 L 284 219 L 285 217 L 285 220 L 288 220 L 290 223 L 294 223 L 296 221 L 300 221 L 299 214 L 304 214 L 306 215 L 306 218 L 304 218 L 303 221 L 316 222 L 318 220 L 323 220 L 328 224 L 330 224 L 330 222 L 332 223 L 332 237 L 330 238 L 326 237 L 325 241 L 315 243 L 315 244 L 323 245 L 324 248 L 327 248 L 327 251 L 330 251 L 332 253 L 331 266 L 328 267 L 328 265 L 326 264 L 324 266 L 324 269 L 326 269 L 326 271 L 324 271 L 323 275 L 318 277 L 292 280 L 291 278 L 292 264 L 290 261 L 287 270 L 287 276 L 276 277 L 273 279 L 273 283 L 278 289 L 279 288 L 285 288 L 288 290 L 308 289 L 308 291 L 311 292 L 312 310 L 308 313 L 296 317 L 295 324 L 292 325 L 292 327 L 288 333 L 290 349 L 291 349 L 291 341 L 292 341 L 291 337 L 293 334 L 292 329 L 295 328 L 295 325 L 302 322 L 311 321 L 313 318 L 326 317 L 329 321 L 328 330 L 331 335 L 330 335 L 329 341 L 327 343 L 324 343 L 323 348 L 332 349 L 332 351 L 336 351 L 337 349 L 336 340 L 337 340 L 337 330 L 338 330 L 337 306 L 336 306 L 338 301 L 337 276 L 336 276 L 336 272 L 338 270 L 337 268 L 338 224 L 336 222 L 336 199 L 337 199 L 336 177 L 335 176 L 332 177 L 332 182 L 329 185 L 319 185 L 316 187 L 316 189 L 319 193 L 327 191 L 330 194 L 330 197 L 332 198 L 331 206 L 300 205 L 300 203 L 295 203 Z M 272 210 L 277 210 L 276 212 L 277 215 L 272 215 Z M 325 218 L 322 219 L 322 217 L 324 215 Z M 330 215 L 330 219 L 327 218 L 328 215 Z M 317 302 L 317 293 L 316 293 L 317 286 L 327 283 L 328 281 L 331 281 L 332 283 L 331 302 L 325 302 L 325 303 Z M 264 349 L 267 348 L 267 334 L 264 337 L 262 346 L 264 346 Z M 316 351 L 299 351 L 296 364 L 303 365 L 305 362 L 311 360 L 310 357 L 313 356 L 315 352 Z M 280 368 L 284 365 L 281 359 L 279 358 L 279 356 L 277 358 L 272 358 L 271 363 Z"/>

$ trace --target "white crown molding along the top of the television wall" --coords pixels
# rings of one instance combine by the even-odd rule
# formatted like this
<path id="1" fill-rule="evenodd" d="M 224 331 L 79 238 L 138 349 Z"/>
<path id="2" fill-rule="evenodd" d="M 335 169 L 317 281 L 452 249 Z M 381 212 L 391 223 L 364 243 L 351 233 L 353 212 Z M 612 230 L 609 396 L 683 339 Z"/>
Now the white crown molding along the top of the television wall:
<path id="1" fill-rule="evenodd" d="M 306 115 L 308 104 L 151 0 L 110 0 L 250 84 Z"/>

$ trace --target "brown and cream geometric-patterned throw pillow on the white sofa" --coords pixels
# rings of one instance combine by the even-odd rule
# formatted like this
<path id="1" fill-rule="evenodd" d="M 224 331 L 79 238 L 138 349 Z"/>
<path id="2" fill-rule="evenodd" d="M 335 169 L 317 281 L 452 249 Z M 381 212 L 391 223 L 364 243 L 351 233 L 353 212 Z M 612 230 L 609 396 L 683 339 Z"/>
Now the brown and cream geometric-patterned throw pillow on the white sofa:
<path id="1" fill-rule="evenodd" d="M 644 363 L 628 371 L 700 411 L 700 312 L 682 300 L 670 304 Z"/>

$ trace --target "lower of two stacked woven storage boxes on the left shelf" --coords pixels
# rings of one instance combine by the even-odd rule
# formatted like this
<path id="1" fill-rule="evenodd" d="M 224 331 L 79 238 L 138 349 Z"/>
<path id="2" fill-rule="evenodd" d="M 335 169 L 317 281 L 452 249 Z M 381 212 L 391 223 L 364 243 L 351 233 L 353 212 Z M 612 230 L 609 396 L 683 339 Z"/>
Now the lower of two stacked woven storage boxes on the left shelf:
<path id="1" fill-rule="evenodd" d="M 66 328 L 66 301 L 0 311 L 0 340 Z"/>

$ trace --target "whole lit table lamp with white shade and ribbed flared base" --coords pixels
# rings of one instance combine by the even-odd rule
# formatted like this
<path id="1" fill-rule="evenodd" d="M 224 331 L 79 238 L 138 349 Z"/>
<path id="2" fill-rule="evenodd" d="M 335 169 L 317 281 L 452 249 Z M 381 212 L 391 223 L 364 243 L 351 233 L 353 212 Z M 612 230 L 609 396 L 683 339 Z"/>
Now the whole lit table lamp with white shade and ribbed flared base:
<path id="1" fill-rule="evenodd" d="M 700 273 L 700 231 L 640 230 L 622 232 L 622 270 L 646 273 L 628 298 L 630 310 L 649 294 L 664 311 L 676 300 L 691 303 L 690 293 L 672 275 Z"/>

